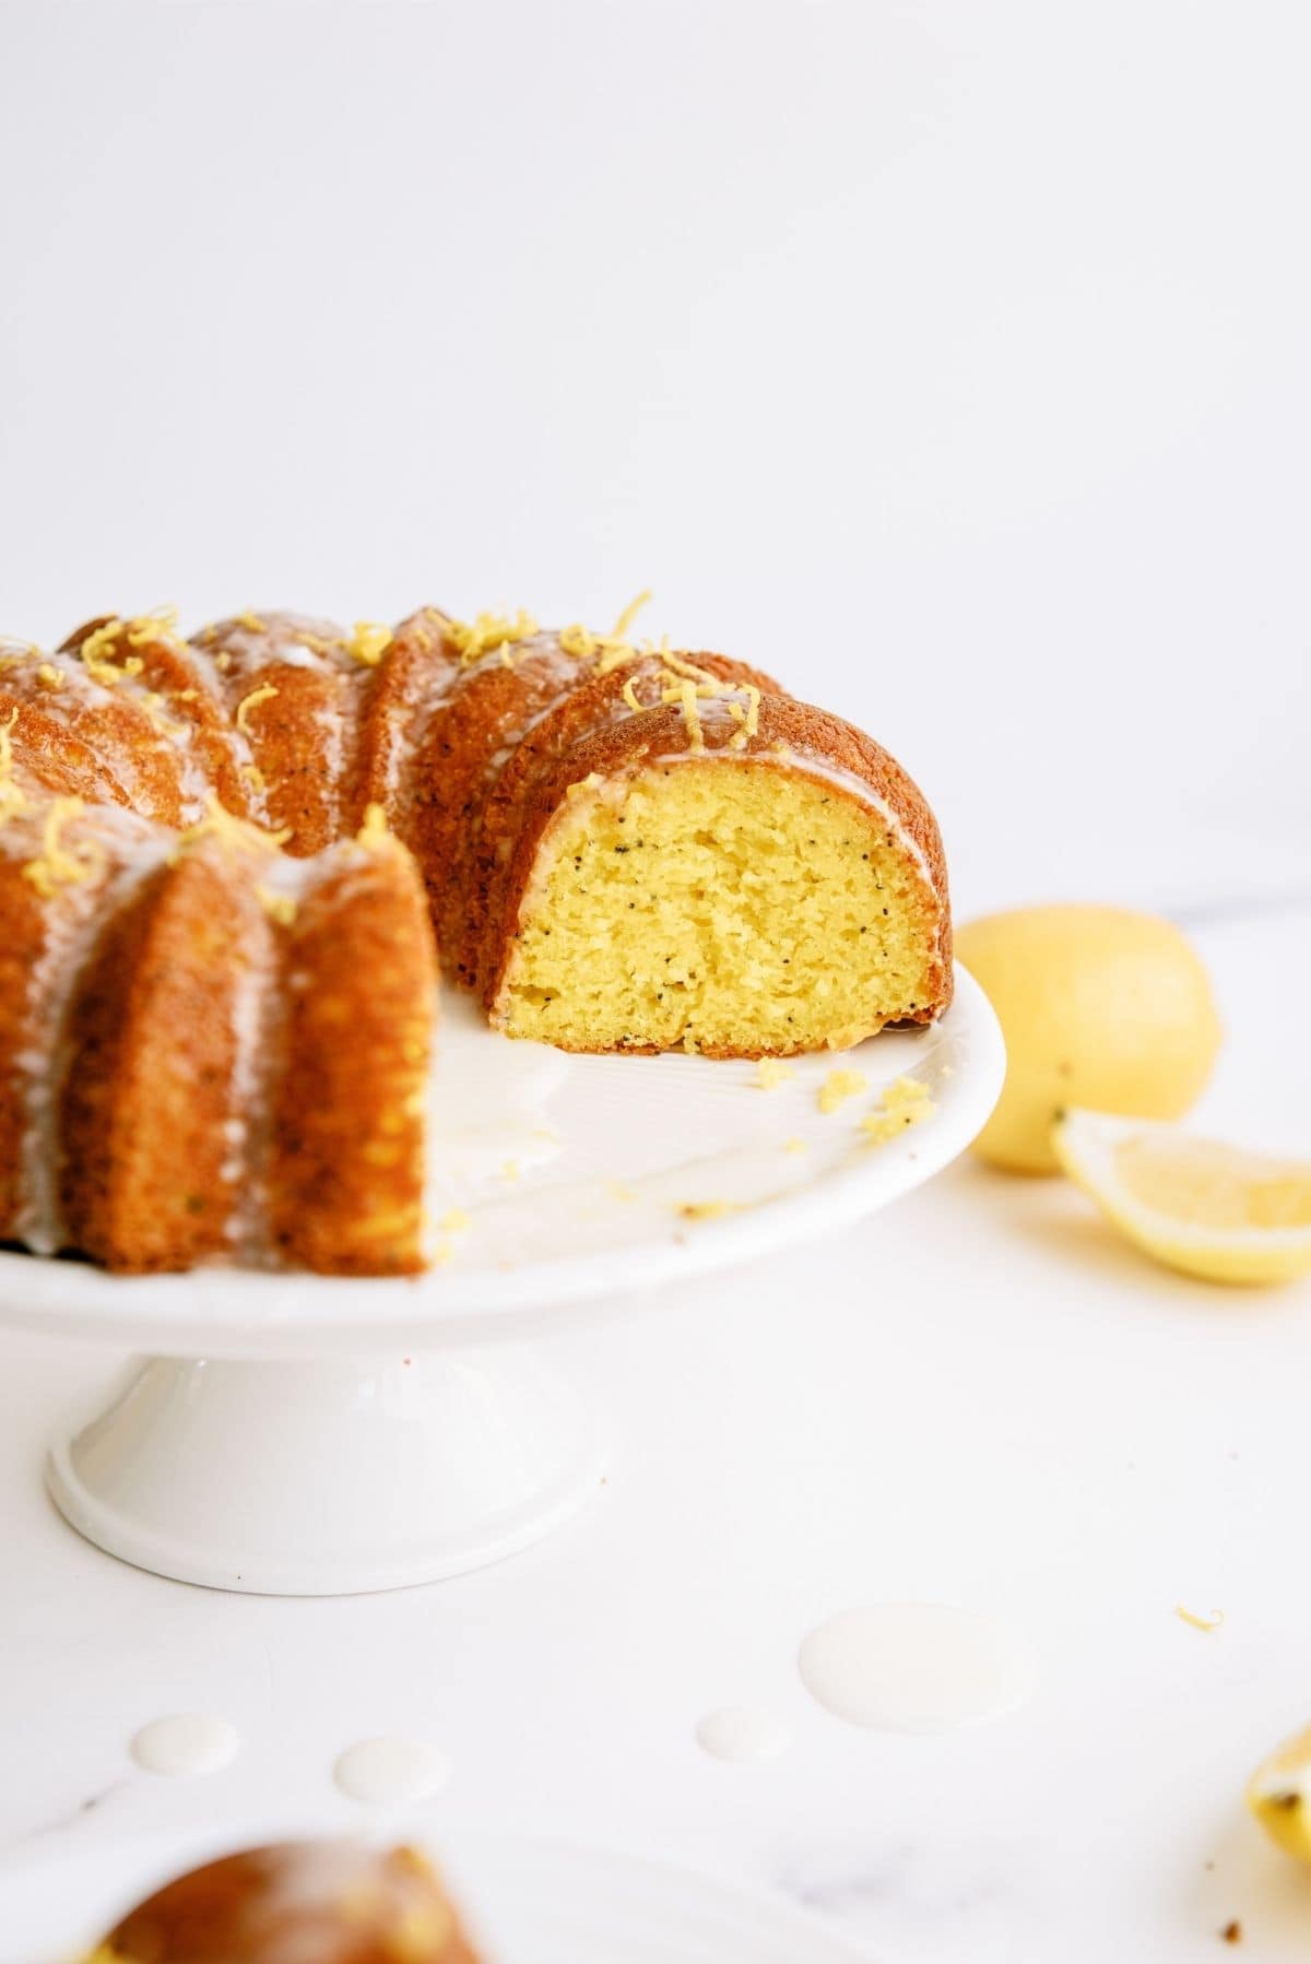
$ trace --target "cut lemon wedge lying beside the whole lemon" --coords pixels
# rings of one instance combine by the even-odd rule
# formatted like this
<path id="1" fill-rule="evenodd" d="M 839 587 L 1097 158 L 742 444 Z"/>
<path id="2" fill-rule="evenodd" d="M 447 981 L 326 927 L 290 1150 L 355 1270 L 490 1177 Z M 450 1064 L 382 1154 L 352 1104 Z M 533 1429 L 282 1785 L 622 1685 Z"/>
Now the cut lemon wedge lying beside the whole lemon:
<path id="1" fill-rule="evenodd" d="M 1065 1173 L 1120 1233 L 1209 1282 L 1287 1282 L 1311 1269 L 1311 1163 L 1244 1153 L 1177 1125 L 1065 1112 Z"/>

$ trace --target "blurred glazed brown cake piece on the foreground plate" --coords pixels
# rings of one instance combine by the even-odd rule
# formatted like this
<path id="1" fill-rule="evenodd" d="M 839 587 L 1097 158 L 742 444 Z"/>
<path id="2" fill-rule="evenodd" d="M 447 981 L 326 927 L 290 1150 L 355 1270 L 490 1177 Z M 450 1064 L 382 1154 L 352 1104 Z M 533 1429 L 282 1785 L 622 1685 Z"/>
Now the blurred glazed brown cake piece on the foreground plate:
<path id="1" fill-rule="evenodd" d="M 415 1848 L 230 1854 L 132 1909 L 86 1964 L 478 1964 Z"/>

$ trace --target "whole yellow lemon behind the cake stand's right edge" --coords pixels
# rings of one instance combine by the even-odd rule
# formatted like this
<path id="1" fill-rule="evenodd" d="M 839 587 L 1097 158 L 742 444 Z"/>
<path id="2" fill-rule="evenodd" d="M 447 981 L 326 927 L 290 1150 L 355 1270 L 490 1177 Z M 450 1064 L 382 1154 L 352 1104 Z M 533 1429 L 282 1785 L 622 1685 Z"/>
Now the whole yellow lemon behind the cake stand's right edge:
<path id="1" fill-rule="evenodd" d="M 959 929 L 955 951 L 1006 1037 L 1006 1082 L 975 1151 L 1055 1173 L 1065 1106 L 1183 1118 L 1221 1047 L 1197 953 L 1177 927 L 1124 907 L 1020 907 Z"/>

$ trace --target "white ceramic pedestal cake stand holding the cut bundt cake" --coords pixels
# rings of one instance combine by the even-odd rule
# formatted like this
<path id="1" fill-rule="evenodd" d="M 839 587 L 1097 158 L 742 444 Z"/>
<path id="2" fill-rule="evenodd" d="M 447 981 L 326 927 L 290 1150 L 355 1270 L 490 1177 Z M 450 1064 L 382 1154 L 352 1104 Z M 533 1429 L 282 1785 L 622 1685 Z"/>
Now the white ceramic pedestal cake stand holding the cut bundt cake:
<path id="1" fill-rule="evenodd" d="M 955 1159 L 1000 1090 L 1000 1031 L 957 970 L 932 1029 L 796 1061 L 562 1059 L 446 1002 L 434 1214 L 419 1279 L 208 1269 L 110 1277 L 0 1255 L 0 1320 L 138 1353 L 51 1447 L 55 1502 L 138 1567 L 216 1589 L 344 1595 L 509 1555 L 596 1493 L 594 1414 L 541 1339 L 584 1304 L 759 1259 L 886 1206 Z M 831 1114 L 841 1066 L 867 1088 Z M 934 1112 L 859 1119 L 910 1074 Z"/>

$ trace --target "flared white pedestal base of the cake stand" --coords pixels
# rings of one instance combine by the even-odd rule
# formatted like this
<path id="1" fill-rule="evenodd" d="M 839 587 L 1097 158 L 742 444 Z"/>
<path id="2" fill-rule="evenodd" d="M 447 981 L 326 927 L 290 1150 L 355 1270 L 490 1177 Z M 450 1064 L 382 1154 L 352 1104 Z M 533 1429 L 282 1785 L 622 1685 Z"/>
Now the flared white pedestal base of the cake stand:
<path id="1" fill-rule="evenodd" d="M 47 1459 L 86 1540 L 256 1595 L 405 1589 L 484 1567 L 601 1483 L 572 1385 L 511 1343 L 326 1361 L 151 1357 Z"/>

